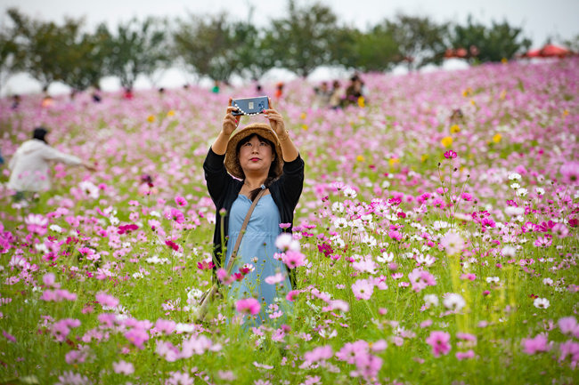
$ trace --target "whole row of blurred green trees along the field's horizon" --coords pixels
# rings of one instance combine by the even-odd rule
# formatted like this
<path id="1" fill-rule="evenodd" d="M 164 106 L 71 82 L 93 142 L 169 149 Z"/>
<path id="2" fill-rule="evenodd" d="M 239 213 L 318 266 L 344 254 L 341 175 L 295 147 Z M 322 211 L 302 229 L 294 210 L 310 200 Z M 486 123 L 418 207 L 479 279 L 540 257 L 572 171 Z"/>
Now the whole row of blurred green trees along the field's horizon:
<path id="1" fill-rule="evenodd" d="M 63 23 L 35 20 L 7 11 L 0 27 L 0 88 L 8 76 L 26 72 L 47 89 L 60 81 L 77 91 L 118 76 L 132 88 L 139 75 L 159 82 L 163 68 L 180 67 L 196 76 L 228 82 L 232 76 L 258 80 L 271 68 L 308 76 L 320 66 L 387 71 L 440 64 L 449 50 L 471 63 L 513 58 L 531 41 L 506 20 L 486 26 L 472 17 L 465 24 L 437 23 L 398 14 L 360 30 L 340 22 L 324 4 L 298 6 L 289 0 L 285 16 L 256 27 L 227 13 L 190 14 L 176 20 L 149 17 L 116 28 L 105 23 L 86 31 L 83 19 Z"/>

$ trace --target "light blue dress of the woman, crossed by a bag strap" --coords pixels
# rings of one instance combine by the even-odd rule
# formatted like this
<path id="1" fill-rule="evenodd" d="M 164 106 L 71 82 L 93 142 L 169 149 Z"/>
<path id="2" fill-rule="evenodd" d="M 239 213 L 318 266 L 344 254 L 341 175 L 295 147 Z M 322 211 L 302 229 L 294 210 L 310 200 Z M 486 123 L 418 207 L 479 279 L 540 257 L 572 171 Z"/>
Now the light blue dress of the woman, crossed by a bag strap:
<path id="1" fill-rule="evenodd" d="M 225 255 L 225 266 L 229 263 L 233 246 L 240 234 L 241 226 L 245 216 L 251 206 L 249 197 L 240 194 L 233 202 L 229 215 L 229 240 L 227 242 L 227 254 Z M 288 302 L 285 296 L 291 290 L 288 269 L 282 261 L 273 258 L 274 253 L 280 253 L 275 247 L 275 239 L 280 235 L 280 212 L 273 202 L 271 194 L 259 199 L 251 214 L 248 227 L 241 239 L 240 249 L 237 252 L 237 261 L 232 269 L 232 274 L 239 272 L 246 263 L 250 263 L 255 268 L 247 276 L 239 281 L 235 281 L 229 291 L 232 299 L 253 297 L 261 304 L 260 313 L 257 315 L 256 325 L 261 325 L 265 319 L 270 319 L 271 310 L 269 305 L 276 303 L 279 309 L 285 313 L 288 310 Z M 265 282 L 266 277 L 281 273 L 285 279 L 278 284 L 270 285 Z M 281 301 L 275 302 L 278 297 Z M 277 321 L 283 319 L 274 318 Z M 269 322 L 272 324 L 272 322 Z"/>

